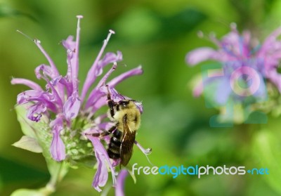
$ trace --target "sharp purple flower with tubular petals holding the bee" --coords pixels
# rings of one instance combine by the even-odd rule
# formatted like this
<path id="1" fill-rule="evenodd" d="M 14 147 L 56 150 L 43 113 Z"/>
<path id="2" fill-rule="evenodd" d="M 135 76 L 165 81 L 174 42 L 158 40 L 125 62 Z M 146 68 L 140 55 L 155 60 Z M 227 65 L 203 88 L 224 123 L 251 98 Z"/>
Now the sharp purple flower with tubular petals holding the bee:
<path id="1" fill-rule="evenodd" d="M 106 120 L 106 114 L 96 115 L 96 111 L 100 110 L 101 107 L 107 107 L 105 85 L 109 86 L 112 98 L 115 101 L 122 100 L 126 96 L 120 95 L 115 90 L 115 86 L 128 77 L 142 74 L 143 70 L 139 66 L 107 81 L 110 74 L 117 68 L 117 62 L 122 60 L 120 51 L 103 55 L 111 35 L 115 34 L 110 30 L 86 76 L 81 93 L 79 93 L 79 79 L 77 78 L 79 71 L 79 34 L 80 20 L 83 17 L 78 15 L 77 18 L 76 39 L 74 40 L 74 37 L 70 36 L 62 41 L 67 53 L 67 74 L 63 76 L 58 72 L 55 63 L 41 46 L 41 42 L 34 40 L 34 43 L 48 60 L 48 65 L 42 64 L 35 69 L 37 78 L 46 81 L 46 87 L 41 88 L 34 81 L 20 78 L 13 78 L 11 84 L 24 84 L 31 89 L 20 93 L 17 98 L 18 105 L 27 103 L 30 105 L 31 103 L 31 106 L 27 108 L 28 119 L 39 122 L 43 115 L 49 118 L 49 130 L 46 130 L 48 134 L 45 135 L 47 138 L 41 138 L 41 140 L 43 143 L 51 141 L 46 145 L 49 146 L 53 159 L 58 162 L 71 160 L 73 164 L 79 159 L 92 156 L 94 150 L 98 169 L 93 179 L 93 187 L 100 191 L 100 186 L 104 186 L 107 182 L 107 167 L 112 172 L 113 184 L 115 185 L 115 166 L 119 162 L 108 157 L 105 147 L 100 141 L 104 140 L 105 143 L 109 143 L 110 136 L 99 138 L 85 133 L 101 133 L 112 126 L 112 122 Z M 110 64 L 112 65 L 111 69 L 103 74 L 103 68 Z M 98 77 L 100 77 L 99 80 Z M 141 103 L 136 102 L 136 105 L 142 112 Z M 51 139 L 48 140 L 48 137 Z M 88 140 L 91 141 L 93 148 L 89 148 Z"/>

